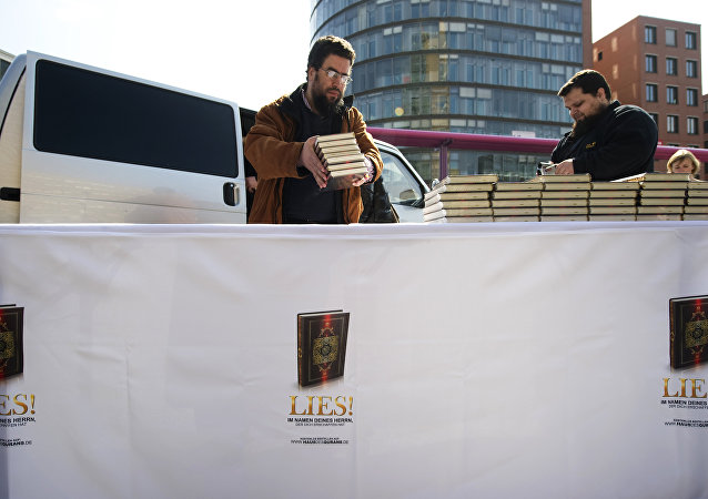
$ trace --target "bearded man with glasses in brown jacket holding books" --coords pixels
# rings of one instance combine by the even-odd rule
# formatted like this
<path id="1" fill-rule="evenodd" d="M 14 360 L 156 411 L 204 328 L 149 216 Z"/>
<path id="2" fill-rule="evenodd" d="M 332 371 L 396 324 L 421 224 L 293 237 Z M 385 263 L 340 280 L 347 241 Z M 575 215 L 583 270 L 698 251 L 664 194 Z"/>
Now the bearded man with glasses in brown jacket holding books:
<path id="1" fill-rule="evenodd" d="M 354 58 L 346 40 L 320 38 L 307 58 L 306 82 L 256 114 L 245 141 L 245 155 L 259 175 L 249 223 L 358 222 L 360 186 L 381 175 L 383 161 L 353 98 L 343 96 Z M 368 173 L 345 177 L 344 189 L 326 189 L 331 179 L 315 140 L 344 132 L 354 132 Z"/>

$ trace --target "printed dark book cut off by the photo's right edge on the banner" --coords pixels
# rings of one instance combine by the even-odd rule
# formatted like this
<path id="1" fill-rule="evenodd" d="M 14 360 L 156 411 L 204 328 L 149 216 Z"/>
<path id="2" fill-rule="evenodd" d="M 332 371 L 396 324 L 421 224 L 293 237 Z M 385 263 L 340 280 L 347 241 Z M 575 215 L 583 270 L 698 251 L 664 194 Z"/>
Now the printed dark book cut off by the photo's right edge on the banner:
<path id="1" fill-rule="evenodd" d="M 671 367 L 708 359 L 708 295 L 669 299 Z"/>

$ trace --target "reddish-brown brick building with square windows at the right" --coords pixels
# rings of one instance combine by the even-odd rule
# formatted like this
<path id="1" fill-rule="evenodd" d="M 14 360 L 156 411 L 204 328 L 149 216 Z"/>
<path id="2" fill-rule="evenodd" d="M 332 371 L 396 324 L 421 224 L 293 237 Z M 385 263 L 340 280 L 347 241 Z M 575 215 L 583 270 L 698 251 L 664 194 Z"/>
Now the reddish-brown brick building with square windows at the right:
<path id="1" fill-rule="evenodd" d="M 613 98 L 651 114 L 659 144 L 705 145 L 700 24 L 639 16 L 593 44 L 593 67 Z M 665 170 L 666 162 L 655 162 L 655 171 Z"/>

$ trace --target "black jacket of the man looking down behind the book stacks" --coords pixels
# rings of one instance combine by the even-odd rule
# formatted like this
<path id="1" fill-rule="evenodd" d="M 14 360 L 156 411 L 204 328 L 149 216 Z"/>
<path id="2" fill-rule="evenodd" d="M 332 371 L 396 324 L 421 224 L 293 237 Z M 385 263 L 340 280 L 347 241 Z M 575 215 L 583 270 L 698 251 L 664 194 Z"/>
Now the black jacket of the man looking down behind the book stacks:
<path id="1" fill-rule="evenodd" d="M 560 163 L 573 157 L 575 173 L 589 173 L 594 181 L 617 180 L 654 170 L 657 139 L 656 123 L 646 111 L 613 101 L 585 135 L 566 133 L 550 159 Z"/>

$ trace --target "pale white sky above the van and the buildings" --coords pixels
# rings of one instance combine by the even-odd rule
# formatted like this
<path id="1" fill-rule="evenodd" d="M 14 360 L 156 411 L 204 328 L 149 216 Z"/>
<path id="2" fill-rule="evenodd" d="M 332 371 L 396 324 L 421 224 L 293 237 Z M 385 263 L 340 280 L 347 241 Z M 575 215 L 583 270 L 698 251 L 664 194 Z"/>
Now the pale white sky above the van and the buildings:
<path id="1" fill-rule="evenodd" d="M 695 22 L 702 24 L 705 65 L 708 9 L 700 4 L 594 0 L 593 41 L 637 16 Z M 42 52 L 260 109 L 304 81 L 310 10 L 311 0 L 0 0 L 0 49 Z"/>

